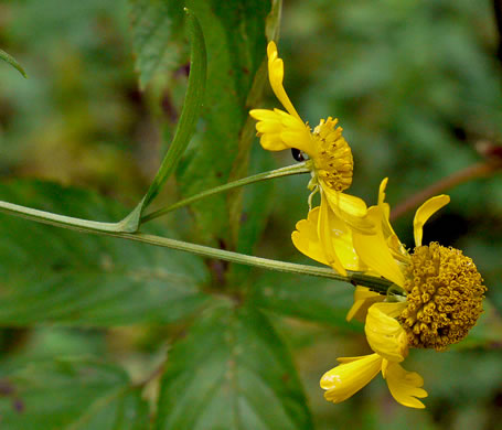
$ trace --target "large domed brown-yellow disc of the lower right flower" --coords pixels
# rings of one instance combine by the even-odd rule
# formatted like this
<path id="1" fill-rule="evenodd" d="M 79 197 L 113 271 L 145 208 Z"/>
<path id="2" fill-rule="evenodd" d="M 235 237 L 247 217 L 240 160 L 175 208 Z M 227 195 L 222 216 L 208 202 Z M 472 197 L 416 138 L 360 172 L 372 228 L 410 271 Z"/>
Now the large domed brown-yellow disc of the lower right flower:
<path id="1" fill-rule="evenodd" d="M 483 279 L 459 249 L 437 243 L 416 247 L 404 287 L 408 305 L 399 321 L 409 346 L 445 350 L 466 337 L 483 311 Z"/>

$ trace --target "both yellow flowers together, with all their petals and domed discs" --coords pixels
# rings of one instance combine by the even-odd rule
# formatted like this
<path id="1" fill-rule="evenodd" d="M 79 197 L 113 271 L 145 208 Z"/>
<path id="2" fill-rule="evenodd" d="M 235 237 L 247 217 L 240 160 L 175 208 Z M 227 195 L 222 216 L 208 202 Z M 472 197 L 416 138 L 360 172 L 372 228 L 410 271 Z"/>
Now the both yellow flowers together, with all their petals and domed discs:
<path id="1" fill-rule="evenodd" d="M 267 46 L 270 86 L 282 104 L 280 109 L 254 109 L 260 144 L 269 151 L 296 149 L 307 154 L 312 179 L 309 189 L 320 191 L 321 202 L 296 225 L 291 238 L 306 256 L 346 276 L 357 271 L 382 277 L 402 291 L 387 297 L 357 286 L 348 320 L 364 321 L 372 354 L 338 358 L 339 365 L 320 381 L 329 401 L 340 402 L 369 384 L 377 374 L 386 380 L 396 401 L 424 408 L 427 396 L 417 373 L 400 365 L 410 347 L 444 350 L 459 342 L 482 312 L 485 292 L 474 264 L 461 251 L 439 244 L 424 246 L 425 223 L 449 203 L 438 195 L 416 212 L 413 227 L 415 248 L 409 252 L 395 234 L 391 207 L 385 202 L 387 179 L 380 185 L 377 204 L 367 207 L 359 197 L 344 193 L 352 183 L 352 151 L 338 127 L 338 119 L 321 119 L 312 130 L 295 109 L 284 82 L 284 62 L 277 46 Z M 309 198 L 310 206 L 310 198 Z"/>

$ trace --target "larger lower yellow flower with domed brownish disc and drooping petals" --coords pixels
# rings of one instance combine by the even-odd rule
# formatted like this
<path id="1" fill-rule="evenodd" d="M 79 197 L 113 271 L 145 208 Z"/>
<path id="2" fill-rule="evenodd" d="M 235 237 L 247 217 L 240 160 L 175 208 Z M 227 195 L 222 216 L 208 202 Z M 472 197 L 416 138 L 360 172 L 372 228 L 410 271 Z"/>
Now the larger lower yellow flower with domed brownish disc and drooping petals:
<path id="1" fill-rule="evenodd" d="M 292 240 L 301 252 L 322 264 L 330 265 L 325 249 L 337 249 L 348 270 L 383 277 L 403 292 L 399 300 L 398 295 L 385 297 L 356 287 L 348 319 L 365 318 L 364 330 L 374 354 L 339 358 L 341 364 L 321 378 L 321 387 L 327 390 L 324 397 L 333 402 L 343 401 L 382 372 L 399 404 L 424 408 L 418 400 L 427 396 L 421 388 L 423 378 L 405 370 L 399 363 L 409 347 L 440 351 L 462 340 L 482 312 L 485 287 L 472 260 L 460 250 L 437 243 L 421 245 L 424 224 L 449 197 L 429 198 L 417 209 L 415 249 L 409 254 L 389 223 L 386 183 L 386 179 L 382 181 L 377 205 L 367 209 L 374 227 L 371 233 L 331 218 L 328 227 L 317 228 L 321 205 L 297 223 Z"/>

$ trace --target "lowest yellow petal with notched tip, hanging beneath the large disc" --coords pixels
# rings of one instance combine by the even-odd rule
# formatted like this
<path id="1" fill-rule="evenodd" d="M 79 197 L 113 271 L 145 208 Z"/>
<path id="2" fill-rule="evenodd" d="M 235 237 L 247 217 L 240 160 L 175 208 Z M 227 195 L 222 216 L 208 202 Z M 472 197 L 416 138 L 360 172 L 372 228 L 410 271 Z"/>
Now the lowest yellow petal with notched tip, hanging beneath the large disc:
<path id="1" fill-rule="evenodd" d="M 408 408 L 424 409 L 425 405 L 417 399 L 427 397 L 421 388 L 424 379 L 416 372 L 407 372 L 397 363 L 388 363 L 385 372 L 388 389 L 397 402 Z"/>

